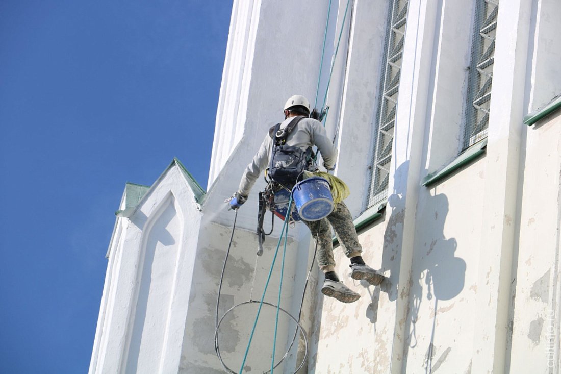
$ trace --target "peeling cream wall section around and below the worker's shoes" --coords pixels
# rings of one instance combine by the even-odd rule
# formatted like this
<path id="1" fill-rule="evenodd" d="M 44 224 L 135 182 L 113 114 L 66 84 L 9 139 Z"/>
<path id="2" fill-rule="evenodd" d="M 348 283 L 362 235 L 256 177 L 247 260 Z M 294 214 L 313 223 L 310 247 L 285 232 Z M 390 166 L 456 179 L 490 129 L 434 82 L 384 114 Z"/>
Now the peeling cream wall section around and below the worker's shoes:
<path id="1" fill-rule="evenodd" d="M 376 268 L 383 261 L 382 243 L 384 225 L 376 224 L 360 236 L 364 248 L 364 259 Z M 388 243 L 389 247 L 391 246 Z M 318 313 L 321 320 L 312 330 L 313 346 L 310 355 L 310 373 L 338 372 L 388 372 L 390 348 L 388 344 L 393 331 L 396 298 L 389 283 L 383 288 L 369 286 L 364 281 L 352 280 L 348 271 L 348 259 L 342 249 L 334 249 L 336 271 L 343 282 L 361 294 L 361 299 L 352 304 L 343 304 L 333 298 L 323 297 L 318 292 Z M 398 258 L 387 259 L 391 267 Z M 396 274 L 392 272 L 392 276 Z M 385 288 L 388 287 L 388 288 Z M 382 291 L 384 289 L 384 291 Z"/>

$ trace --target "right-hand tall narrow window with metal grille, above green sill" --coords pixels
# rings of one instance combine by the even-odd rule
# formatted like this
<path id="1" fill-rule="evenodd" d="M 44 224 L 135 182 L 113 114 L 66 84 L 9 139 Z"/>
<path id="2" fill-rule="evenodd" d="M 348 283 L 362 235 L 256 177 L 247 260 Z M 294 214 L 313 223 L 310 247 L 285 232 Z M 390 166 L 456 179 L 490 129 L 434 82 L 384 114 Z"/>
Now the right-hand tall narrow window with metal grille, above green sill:
<path id="1" fill-rule="evenodd" d="M 499 0 L 476 0 L 462 149 L 487 136 Z"/>

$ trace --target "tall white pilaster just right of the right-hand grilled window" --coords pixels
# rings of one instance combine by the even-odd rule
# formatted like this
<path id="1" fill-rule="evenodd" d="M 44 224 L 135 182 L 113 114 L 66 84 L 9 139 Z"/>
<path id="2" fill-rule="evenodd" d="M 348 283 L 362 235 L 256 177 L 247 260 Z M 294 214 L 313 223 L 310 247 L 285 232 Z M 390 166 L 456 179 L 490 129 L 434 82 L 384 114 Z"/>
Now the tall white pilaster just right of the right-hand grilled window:
<path id="1" fill-rule="evenodd" d="M 525 80 L 530 0 L 500 3 L 481 229 L 474 373 L 503 373 L 511 307 L 511 282 L 519 161 L 525 114 Z M 513 25 L 516 28 L 513 29 Z"/>

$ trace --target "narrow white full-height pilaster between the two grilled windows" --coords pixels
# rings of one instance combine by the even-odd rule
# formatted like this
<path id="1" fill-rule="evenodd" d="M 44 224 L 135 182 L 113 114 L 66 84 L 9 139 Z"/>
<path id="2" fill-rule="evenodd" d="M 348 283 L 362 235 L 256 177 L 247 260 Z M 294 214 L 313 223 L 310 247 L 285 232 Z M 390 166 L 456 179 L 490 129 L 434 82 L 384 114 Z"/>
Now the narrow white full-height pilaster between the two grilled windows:
<path id="1" fill-rule="evenodd" d="M 401 264 L 396 300 L 396 322 L 392 345 L 392 373 L 406 370 L 407 314 L 411 266 L 415 243 L 415 215 L 419 200 L 420 172 L 424 148 L 424 134 L 429 103 L 431 66 L 434 63 L 434 35 L 437 4 L 433 1 L 412 0 L 409 3 L 407 30 L 403 53 L 399 98 L 394 130 L 392 170 L 390 171 L 389 194 L 403 212 Z M 394 211 L 395 212 L 395 211 Z M 398 222 L 399 223 L 399 222 Z M 396 225 L 397 228 L 397 225 Z"/>

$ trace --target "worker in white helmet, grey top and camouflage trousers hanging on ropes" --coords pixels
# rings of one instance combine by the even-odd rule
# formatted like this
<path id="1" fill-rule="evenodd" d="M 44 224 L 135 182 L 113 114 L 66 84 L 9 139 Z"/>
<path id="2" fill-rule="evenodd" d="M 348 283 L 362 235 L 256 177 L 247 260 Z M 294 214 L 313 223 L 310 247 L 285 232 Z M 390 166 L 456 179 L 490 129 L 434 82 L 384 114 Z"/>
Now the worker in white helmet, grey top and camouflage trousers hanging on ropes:
<path id="1" fill-rule="evenodd" d="M 311 152 L 313 146 L 318 147 L 323 158 L 324 167 L 327 170 L 334 170 L 335 161 L 337 159 L 337 148 L 329 140 L 327 132 L 321 122 L 309 118 L 310 102 L 302 95 L 293 95 L 284 105 L 284 121 L 269 130 L 269 134 L 265 136 L 265 140 L 255 154 L 253 161 L 247 165 L 240 181 L 240 186 L 236 193 L 229 200 L 231 208 L 237 209 L 246 202 L 247 196 L 255 184 L 257 177 L 269 166 L 269 176 L 272 176 L 272 169 L 275 165 L 286 165 L 287 162 L 277 162 L 271 165 L 270 158 L 277 157 L 272 152 L 275 147 L 275 130 L 276 133 L 284 133 L 287 128 L 289 130 L 284 139 L 283 144 L 297 150 L 301 150 L 302 157 Z M 292 153 L 293 154 L 293 153 Z M 293 160 L 292 160 L 293 161 Z M 317 171 L 318 167 L 314 161 L 306 160 L 305 170 Z M 288 169 L 288 168 L 287 168 Z M 280 170 L 282 172 L 283 170 Z M 296 180 L 296 177 L 294 177 Z M 295 180 L 292 185 L 295 184 Z M 310 229 L 312 235 L 315 235 L 316 244 L 318 244 L 318 264 L 324 272 L 325 280 L 321 292 L 328 297 L 333 297 L 343 303 L 352 303 L 360 298 L 360 294 L 348 288 L 339 280 L 335 273 L 335 261 L 333 258 L 333 241 L 331 227 L 335 231 L 335 235 L 344 250 L 345 255 L 350 258 L 351 277 L 353 279 L 364 279 L 371 285 L 379 285 L 384 276 L 367 266 L 361 257 L 362 247 L 358 243 L 358 237 L 355 225 L 352 222 L 352 216 L 344 202 L 335 205 L 333 212 L 326 218 L 319 221 L 302 220 Z"/>

